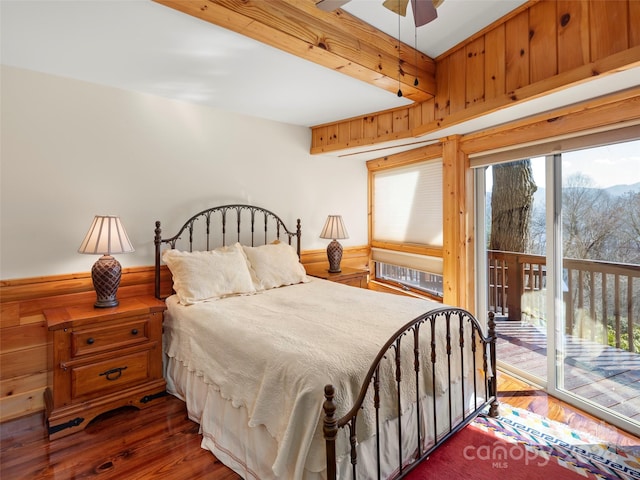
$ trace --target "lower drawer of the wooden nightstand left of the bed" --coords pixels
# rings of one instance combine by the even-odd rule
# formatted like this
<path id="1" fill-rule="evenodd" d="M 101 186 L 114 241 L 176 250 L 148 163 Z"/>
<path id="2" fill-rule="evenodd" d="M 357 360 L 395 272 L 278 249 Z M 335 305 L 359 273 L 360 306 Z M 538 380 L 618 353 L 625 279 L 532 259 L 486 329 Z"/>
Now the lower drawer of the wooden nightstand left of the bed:
<path id="1" fill-rule="evenodd" d="M 148 377 L 149 350 L 73 367 L 71 370 L 71 397 L 75 399 L 107 392 L 130 383 L 139 383 Z"/>

